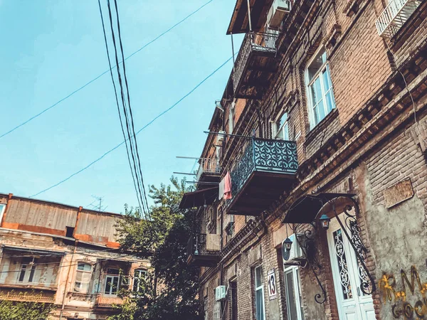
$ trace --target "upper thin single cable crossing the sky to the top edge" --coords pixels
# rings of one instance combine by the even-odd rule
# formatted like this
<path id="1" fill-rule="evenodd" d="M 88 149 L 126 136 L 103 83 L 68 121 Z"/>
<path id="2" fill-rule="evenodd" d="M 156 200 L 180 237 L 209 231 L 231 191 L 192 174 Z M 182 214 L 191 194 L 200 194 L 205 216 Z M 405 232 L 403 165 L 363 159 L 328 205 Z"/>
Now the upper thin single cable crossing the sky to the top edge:
<path id="1" fill-rule="evenodd" d="M 212 1 L 214 0 L 209 0 L 208 2 L 206 2 L 206 4 L 204 4 L 203 6 L 200 6 L 198 9 L 196 9 L 195 11 L 191 12 L 191 14 L 189 14 L 188 16 L 186 16 L 185 18 L 183 18 L 181 21 L 175 23 L 172 27 L 170 27 L 169 29 L 167 29 L 167 31 L 164 31 L 163 33 L 160 33 L 159 36 L 157 36 L 156 38 L 152 39 L 152 41 L 149 41 L 148 43 L 144 44 L 144 46 L 142 46 L 141 48 L 139 48 L 138 50 L 136 50 L 134 53 L 130 54 L 127 56 L 127 58 L 125 58 L 125 60 L 129 59 L 130 57 L 132 57 L 133 55 L 139 53 L 139 51 L 143 50 L 144 48 L 147 48 L 147 46 L 149 46 L 150 44 L 152 44 L 154 41 L 157 41 L 159 38 L 162 38 L 162 36 L 164 36 L 165 34 L 169 33 L 169 31 L 172 31 L 172 29 L 176 28 L 176 26 L 179 26 L 181 23 L 183 23 L 184 21 L 186 21 L 188 18 L 190 18 L 191 16 L 193 16 L 194 14 L 196 14 L 197 12 L 199 12 L 201 9 L 203 9 L 205 6 L 207 6 L 208 4 L 210 4 Z M 115 68 L 116 66 L 114 66 L 113 68 Z M 102 75 L 105 75 L 106 73 L 109 73 L 110 70 L 106 70 L 103 73 L 101 73 L 100 75 L 98 75 L 97 77 L 93 78 L 92 80 L 90 80 L 89 82 L 86 82 L 85 85 L 82 85 L 81 87 L 79 87 L 78 89 L 74 90 L 73 92 L 71 92 L 69 95 L 66 95 L 65 97 L 63 97 L 62 99 L 58 100 L 57 102 L 55 102 L 53 105 L 51 105 L 50 107 L 47 107 L 45 110 L 42 110 L 41 112 L 39 112 L 38 114 L 33 115 L 33 117 L 28 118 L 26 121 L 22 122 L 21 124 L 18 124 L 16 127 L 10 129 L 8 132 L 5 132 L 4 134 L 1 134 L 0 139 L 7 136 L 8 134 L 11 134 L 12 132 L 14 132 L 16 129 L 19 129 L 20 127 L 22 127 L 23 125 L 27 124 L 28 122 L 31 122 L 31 120 L 36 119 L 37 117 L 40 117 L 43 113 L 47 112 L 48 110 L 51 110 L 53 107 L 56 107 L 57 105 L 60 104 L 60 102 L 63 102 L 64 100 L 67 100 L 69 97 L 71 97 L 72 95 L 74 95 L 75 93 L 79 92 L 80 90 L 84 89 L 85 87 L 87 87 L 88 85 L 90 85 L 92 82 L 95 82 L 96 80 L 98 80 L 99 78 L 102 77 Z"/>

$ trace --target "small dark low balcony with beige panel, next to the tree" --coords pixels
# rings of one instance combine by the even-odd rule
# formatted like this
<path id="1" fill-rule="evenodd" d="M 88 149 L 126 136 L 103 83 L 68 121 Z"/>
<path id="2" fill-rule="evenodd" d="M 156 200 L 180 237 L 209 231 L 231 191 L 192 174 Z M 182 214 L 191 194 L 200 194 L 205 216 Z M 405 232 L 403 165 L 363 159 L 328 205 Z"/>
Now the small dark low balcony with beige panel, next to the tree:
<path id="1" fill-rule="evenodd" d="M 190 237 L 187 244 L 187 264 L 215 267 L 220 260 L 221 235 L 201 233 Z"/>

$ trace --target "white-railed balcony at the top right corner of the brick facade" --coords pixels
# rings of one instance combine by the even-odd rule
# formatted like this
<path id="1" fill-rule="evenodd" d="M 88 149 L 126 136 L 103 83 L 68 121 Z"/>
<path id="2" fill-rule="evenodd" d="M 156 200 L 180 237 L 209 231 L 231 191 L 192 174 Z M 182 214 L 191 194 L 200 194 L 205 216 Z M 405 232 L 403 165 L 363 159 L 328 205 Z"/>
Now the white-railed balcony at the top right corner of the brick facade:
<path id="1" fill-rule="evenodd" d="M 379 36 L 392 38 L 421 2 L 419 0 L 390 0 L 389 5 L 375 21 Z"/>

